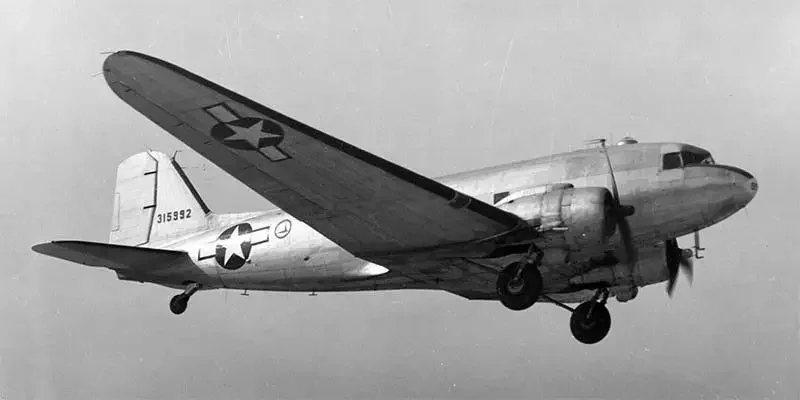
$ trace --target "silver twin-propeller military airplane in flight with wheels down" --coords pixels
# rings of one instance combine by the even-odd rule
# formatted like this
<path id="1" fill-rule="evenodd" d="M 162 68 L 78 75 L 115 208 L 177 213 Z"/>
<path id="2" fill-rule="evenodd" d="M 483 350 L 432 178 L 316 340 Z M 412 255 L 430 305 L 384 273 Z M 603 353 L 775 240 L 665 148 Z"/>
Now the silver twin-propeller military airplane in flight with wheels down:
<path id="1" fill-rule="evenodd" d="M 744 208 L 747 171 L 685 143 L 616 145 L 427 178 L 135 51 L 104 61 L 122 101 L 277 208 L 209 209 L 175 156 L 117 168 L 109 243 L 33 246 L 119 280 L 198 291 L 442 290 L 510 310 L 568 310 L 579 342 L 611 327 L 606 306 L 691 279 L 698 233 Z M 694 234 L 693 249 L 677 238 Z M 578 304 L 573 307 L 570 304 Z"/>

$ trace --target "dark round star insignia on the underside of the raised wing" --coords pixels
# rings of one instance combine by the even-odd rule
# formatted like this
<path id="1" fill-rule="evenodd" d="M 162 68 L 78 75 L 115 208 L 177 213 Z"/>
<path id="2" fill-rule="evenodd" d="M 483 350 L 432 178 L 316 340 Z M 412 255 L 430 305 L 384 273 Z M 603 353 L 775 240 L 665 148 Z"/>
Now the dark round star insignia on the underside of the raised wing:
<path id="1" fill-rule="evenodd" d="M 230 122 L 220 122 L 211 128 L 211 136 L 226 146 L 240 150 L 258 150 L 274 147 L 283 141 L 286 133 L 275 121 L 245 117 Z"/>

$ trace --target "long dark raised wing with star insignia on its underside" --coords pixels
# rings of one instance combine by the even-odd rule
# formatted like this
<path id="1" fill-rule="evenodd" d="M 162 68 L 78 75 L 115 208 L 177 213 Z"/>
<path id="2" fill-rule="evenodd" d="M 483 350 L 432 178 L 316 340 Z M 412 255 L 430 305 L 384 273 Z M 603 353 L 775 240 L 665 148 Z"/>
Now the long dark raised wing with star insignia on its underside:
<path id="1" fill-rule="evenodd" d="M 524 224 L 163 60 L 122 51 L 103 71 L 123 101 L 358 257 L 386 260 Z"/>

